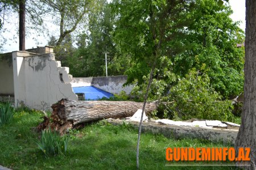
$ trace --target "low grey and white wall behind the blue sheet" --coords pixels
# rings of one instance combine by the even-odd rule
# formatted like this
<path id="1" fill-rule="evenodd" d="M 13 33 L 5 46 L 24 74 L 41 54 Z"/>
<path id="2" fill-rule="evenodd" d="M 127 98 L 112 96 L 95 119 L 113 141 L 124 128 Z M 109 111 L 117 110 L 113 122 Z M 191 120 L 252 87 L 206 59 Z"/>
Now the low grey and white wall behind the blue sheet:
<path id="1" fill-rule="evenodd" d="M 126 80 L 126 75 L 98 76 L 89 78 L 73 78 L 71 84 L 72 87 L 94 86 L 112 94 L 120 94 L 121 91 L 125 91 L 126 94 L 130 94 L 134 86 L 129 85 L 124 87 L 123 84 L 126 83 Z"/>

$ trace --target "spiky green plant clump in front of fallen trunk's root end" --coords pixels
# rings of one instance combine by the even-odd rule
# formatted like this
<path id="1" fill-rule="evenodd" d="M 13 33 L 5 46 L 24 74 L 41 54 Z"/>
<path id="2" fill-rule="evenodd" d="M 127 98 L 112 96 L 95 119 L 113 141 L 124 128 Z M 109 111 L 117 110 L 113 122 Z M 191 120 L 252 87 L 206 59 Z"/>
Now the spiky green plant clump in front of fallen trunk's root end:
<path id="1" fill-rule="evenodd" d="M 56 131 L 43 130 L 42 137 L 36 144 L 46 156 L 65 154 L 68 147 L 68 137 L 61 137 Z"/>

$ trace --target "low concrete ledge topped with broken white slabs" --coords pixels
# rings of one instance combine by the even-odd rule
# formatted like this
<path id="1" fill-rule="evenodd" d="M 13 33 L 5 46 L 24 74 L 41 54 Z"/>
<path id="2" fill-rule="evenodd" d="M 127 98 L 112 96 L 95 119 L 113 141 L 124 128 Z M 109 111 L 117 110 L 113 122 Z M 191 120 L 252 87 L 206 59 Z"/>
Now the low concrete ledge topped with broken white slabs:
<path id="1" fill-rule="evenodd" d="M 133 117 L 126 117 L 123 120 L 108 118 L 106 121 L 114 125 L 123 124 L 123 121 L 129 122 L 135 128 L 138 128 L 141 120 L 142 110 L 139 109 Z M 143 117 L 146 115 L 143 114 Z M 142 131 L 153 134 L 163 134 L 166 137 L 174 138 L 199 138 L 209 141 L 222 141 L 226 143 L 235 143 L 240 125 L 232 122 L 217 120 L 187 120 L 173 121 L 167 119 L 144 119 Z"/>

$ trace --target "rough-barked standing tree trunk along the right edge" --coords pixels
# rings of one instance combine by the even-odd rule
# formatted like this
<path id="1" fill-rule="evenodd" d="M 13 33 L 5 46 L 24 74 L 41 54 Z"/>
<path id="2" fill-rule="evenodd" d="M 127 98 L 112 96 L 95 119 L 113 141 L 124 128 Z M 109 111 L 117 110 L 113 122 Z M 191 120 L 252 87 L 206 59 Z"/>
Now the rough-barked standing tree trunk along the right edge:
<path id="1" fill-rule="evenodd" d="M 256 1 L 246 0 L 245 31 L 245 84 L 243 86 L 243 111 L 236 149 L 250 147 L 250 165 L 255 169 L 256 161 Z M 243 163 L 238 165 L 243 166 Z"/>

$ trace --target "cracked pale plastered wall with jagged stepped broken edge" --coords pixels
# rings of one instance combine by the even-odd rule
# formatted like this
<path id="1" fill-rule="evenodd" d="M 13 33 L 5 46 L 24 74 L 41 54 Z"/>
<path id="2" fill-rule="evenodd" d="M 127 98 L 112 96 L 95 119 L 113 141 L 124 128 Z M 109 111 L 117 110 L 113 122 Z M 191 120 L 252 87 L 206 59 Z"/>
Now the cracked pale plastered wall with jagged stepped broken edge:
<path id="1" fill-rule="evenodd" d="M 53 53 L 13 52 L 15 107 L 49 110 L 63 98 L 77 100 L 68 68 Z"/>

